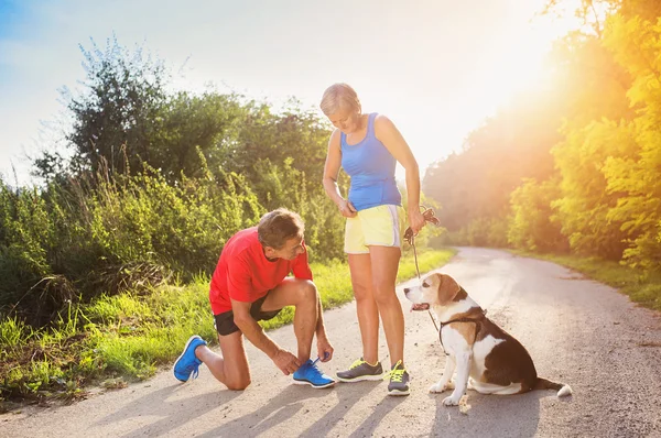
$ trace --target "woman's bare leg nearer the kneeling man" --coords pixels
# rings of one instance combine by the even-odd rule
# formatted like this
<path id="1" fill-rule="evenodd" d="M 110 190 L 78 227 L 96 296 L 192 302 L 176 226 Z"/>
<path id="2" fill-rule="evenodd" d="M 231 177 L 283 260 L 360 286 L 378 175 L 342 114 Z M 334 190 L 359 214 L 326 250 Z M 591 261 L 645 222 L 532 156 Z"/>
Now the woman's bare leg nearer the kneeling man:
<path id="1" fill-rule="evenodd" d="M 379 361 L 379 310 L 372 293 L 370 254 L 348 255 L 362 339 L 362 360 L 373 365 Z"/>

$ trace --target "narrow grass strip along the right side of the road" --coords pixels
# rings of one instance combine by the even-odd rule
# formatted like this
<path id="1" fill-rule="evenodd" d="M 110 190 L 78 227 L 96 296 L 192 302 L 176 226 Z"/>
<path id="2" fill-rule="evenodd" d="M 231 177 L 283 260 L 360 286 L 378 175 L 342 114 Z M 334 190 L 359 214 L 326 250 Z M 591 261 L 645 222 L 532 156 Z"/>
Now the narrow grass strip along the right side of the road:
<path id="1" fill-rule="evenodd" d="M 516 254 L 548 260 L 581 272 L 586 276 L 617 288 L 633 303 L 653 310 L 661 310 L 661 273 L 649 273 L 621 265 L 618 262 L 576 255 L 550 255 L 522 251 Z"/>

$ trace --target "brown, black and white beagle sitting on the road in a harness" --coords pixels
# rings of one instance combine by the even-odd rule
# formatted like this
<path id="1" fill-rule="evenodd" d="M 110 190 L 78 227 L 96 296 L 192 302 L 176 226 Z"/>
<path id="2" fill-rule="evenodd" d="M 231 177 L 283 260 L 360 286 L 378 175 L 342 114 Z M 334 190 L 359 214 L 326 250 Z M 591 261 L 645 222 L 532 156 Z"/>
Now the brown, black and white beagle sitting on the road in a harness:
<path id="1" fill-rule="evenodd" d="M 467 388 L 499 395 L 532 390 L 557 391 L 559 397 L 572 394 L 570 385 L 538 377 L 525 348 L 488 319 L 449 275 L 431 274 L 422 286 L 404 288 L 404 295 L 413 303 L 413 310 L 431 307 L 441 321 L 438 335 L 447 359 L 443 376 L 430 392 L 442 393 L 454 387 L 443 399 L 444 405 L 458 405 Z M 455 369 L 457 377 L 453 383 Z"/>

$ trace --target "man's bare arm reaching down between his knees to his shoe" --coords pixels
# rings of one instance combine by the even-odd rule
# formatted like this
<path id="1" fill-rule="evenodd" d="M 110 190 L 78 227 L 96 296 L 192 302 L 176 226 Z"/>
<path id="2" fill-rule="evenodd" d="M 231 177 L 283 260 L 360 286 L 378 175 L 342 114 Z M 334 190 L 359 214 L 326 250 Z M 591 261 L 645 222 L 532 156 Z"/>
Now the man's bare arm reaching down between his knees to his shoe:
<path id="1" fill-rule="evenodd" d="M 251 305 L 252 303 L 231 300 L 235 324 L 243 336 L 254 347 L 263 351 L 285 375 L 292 374 L 301 366 L 299 359 L 289 351 L 280 348 L 280 346 L 264 333 L 259 324 L 252 318 L 252 315 L 250 315 Z"/>

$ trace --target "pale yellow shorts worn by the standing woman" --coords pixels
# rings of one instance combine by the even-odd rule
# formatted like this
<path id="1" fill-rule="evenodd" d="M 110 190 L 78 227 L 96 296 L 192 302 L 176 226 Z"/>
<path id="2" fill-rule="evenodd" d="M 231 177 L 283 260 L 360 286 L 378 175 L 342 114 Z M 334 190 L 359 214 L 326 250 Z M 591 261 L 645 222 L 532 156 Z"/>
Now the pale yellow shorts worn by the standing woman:
<path id="1" fill-rule="evenodd" d="M 347 218 L 345 252 L 369 253 L 369 245 L 401 248 L 404 210 L 400 206 L 378 206 L 358 211 Z"/>

